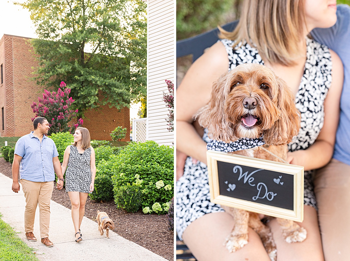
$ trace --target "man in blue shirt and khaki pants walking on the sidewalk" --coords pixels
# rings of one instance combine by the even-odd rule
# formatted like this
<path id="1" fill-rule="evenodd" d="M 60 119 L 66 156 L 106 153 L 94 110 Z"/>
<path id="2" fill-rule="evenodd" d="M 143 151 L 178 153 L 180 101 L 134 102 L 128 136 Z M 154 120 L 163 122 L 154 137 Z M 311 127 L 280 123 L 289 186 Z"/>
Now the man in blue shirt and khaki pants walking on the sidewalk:
<path id="1" fill-rule="evenodd" d="M 52 247 L 49 240 L 50 200 L 54 187 L 55 172 L 59 178 L 57 189 L 63 188 L 61 163 L 54 141 L 46 135 L 50 129 L 49 122 L 44 117 L 37 117 L 33 121 L 34 131 L 21 137 L 15 146 L 12 164 L 12 190 L 18 193 L 18 173 L 26 198 L 24 224 L 29 241 L 36 241 L 33 234 L 36 207 L 40 209 L 41 242 Z"/>

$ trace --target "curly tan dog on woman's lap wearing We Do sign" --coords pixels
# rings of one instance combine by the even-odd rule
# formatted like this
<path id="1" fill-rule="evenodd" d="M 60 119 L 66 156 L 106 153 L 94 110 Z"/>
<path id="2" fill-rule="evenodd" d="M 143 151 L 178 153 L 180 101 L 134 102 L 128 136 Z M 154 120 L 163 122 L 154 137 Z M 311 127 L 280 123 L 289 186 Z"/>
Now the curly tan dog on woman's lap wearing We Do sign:
<path id="1" fill-rule="evenodd" d="M 208 129 L 208 136 L 225 143 L 240 138 L 263 136 L 266 150 L 287 158 L 287 144 L 300 128 L 300 113 L 295 96 L 285 81 L 260 64 L 240 64 L 214 83 L 209 103 L 197 112 L 198 123 Z M 281 162 L 261 147 L 230 152 Z M 248 226 L 256 231 L 269 254 L 276 260 L 276 245 L 270 229 L 257 213 L 224 207 L 236 220 L 225 246 L 234 252 L 248 243 Z M 287 242 L 302 242 L 306 230 L 292 220 L 278 218 Z"/>

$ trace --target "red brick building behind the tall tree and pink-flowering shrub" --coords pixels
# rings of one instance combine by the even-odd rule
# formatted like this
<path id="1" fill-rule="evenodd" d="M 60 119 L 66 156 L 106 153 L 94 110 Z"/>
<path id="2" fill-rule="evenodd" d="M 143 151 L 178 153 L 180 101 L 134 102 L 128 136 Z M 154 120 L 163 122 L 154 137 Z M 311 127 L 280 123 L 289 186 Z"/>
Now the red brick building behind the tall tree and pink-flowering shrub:
<path id="1" fill-rule="evenodd" d="M 30 105 L 38 101 L 44 88 L 30 80 L 32 67 L 37 67 L 38 63 L 30 53 L 33 48 L 28 39 L 5 34 L 0 40 L 1 137 L 19 137 L 33 130 L 31 117 L 35 114 Z M 122 141 L 130 141 L 130 110 L 108 106 L 87 110 L 83 126 L 89 129 L 91 139 L 99 140 L 111 140 L 111 131 L 123 126 L 128 131 Z"/>

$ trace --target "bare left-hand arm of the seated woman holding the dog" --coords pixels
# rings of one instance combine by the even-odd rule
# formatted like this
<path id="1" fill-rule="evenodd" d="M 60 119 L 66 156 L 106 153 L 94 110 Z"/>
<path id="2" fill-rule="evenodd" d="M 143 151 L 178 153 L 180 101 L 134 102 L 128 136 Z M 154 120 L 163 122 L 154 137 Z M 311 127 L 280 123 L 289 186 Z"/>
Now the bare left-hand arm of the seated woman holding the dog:
<path id="1" fill-rule="evenodd" d="M 207 144 L 196 132 L 193 115 L 208 103 L 212 84 L 228 71 L 229 60 L 222 43 L 216 43 L 198 58 L 176 90 L 176 148 L 207 162 Z"/>

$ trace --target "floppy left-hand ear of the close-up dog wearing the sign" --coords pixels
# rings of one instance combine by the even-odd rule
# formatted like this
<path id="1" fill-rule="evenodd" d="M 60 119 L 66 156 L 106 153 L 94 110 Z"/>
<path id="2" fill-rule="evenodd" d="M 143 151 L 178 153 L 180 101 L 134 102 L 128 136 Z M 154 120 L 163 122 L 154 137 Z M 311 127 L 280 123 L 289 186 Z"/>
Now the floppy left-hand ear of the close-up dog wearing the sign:
<path id="1" fill-rule="evenodd" d="M 224 110 L 226 97 L 231 90 L 231 78 L 232 75 L 226 73 L 214 82 L 210 102 L 194 116 L 203 128 L 208 129 L 209 138 L 226 143 L 238 139 Z"/>

